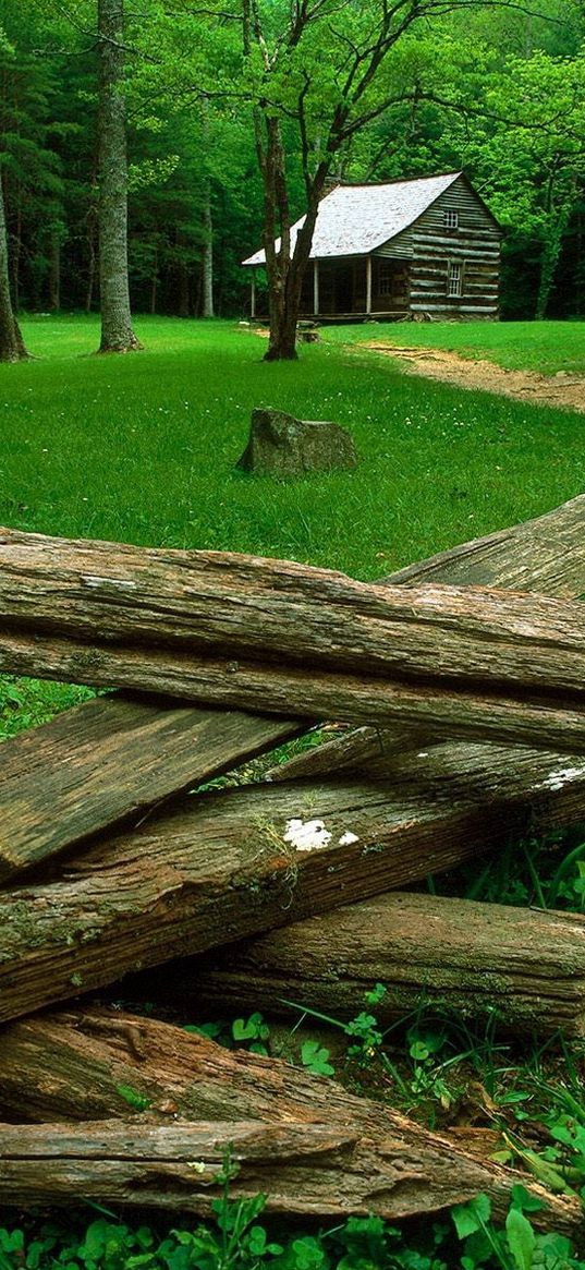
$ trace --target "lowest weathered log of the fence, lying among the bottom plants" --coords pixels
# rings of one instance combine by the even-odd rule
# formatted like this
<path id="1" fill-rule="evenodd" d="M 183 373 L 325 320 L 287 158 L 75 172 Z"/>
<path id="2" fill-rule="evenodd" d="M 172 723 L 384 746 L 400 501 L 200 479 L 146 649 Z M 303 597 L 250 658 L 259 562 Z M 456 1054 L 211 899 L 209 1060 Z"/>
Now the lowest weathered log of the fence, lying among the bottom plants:
<path id="1" fill-rule="evenodd" d="M 358 1126 L 266 1124 L 261 1120 L 150 1124 L 0 1125 L 3 1200 L 19 1206 L 71 1204 L 77 1199 L 208 1215 L 222 1194 L 222 1153 L 230 1148 L 239 1173 L 232 1200 L 266 1195 L 266 1212 L 345 1218 L 430 1214 L 490 1195 L 496 1213 L 523 1175 L 481 1163 L 452 1142 L 402 1120 L 365 1135 Z M 548 1195 L 541 1220 L 575 1234 L 579 1200 Z M 582 1226 L 582 1223 L 581 1223 Z"/>

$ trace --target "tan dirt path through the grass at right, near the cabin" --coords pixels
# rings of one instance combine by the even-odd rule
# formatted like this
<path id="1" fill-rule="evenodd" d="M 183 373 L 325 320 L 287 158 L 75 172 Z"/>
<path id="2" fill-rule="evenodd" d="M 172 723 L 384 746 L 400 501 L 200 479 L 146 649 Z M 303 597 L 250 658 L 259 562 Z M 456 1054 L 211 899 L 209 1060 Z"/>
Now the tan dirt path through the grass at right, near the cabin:
<path id="1" fill-rule="evenodd" d="M 482 389 L 536 405 L 561 406 L 585 413 L 585 375 L 557 371 L 556 375 L 538 375 L 536 371 L 505 371 L 494 362 L 475 362 L 457 353 L 439 348 L 397 348 L 383 340 L 372 340 L 362 348 L 397 357 L 409 375 L 421 375 L 428 380 L 443 380 L 462 389 Z"/>

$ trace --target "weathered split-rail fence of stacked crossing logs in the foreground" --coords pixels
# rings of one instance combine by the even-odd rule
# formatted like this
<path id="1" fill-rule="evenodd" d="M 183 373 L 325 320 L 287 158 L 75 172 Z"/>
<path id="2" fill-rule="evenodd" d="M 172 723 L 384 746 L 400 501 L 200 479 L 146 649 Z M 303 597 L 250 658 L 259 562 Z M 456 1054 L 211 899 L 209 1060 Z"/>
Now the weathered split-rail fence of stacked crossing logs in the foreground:
<path id="1" fill-rule="evenodd" d="M 0 672 L 117 690 L 1 747 L 4 1203 L 207 1213 L 231 1144 L 273 1212 L 506 1208 L 472 1142 L 100 993 L 148 970 L 352 1017 L 381 982 L 385 1024 L 584 1036 L 584 918 L 407 889 L 585 819 L 584 592 L 585 497 L 377 584 L 0 531 Z M 208 787 L 320 720 L 346 726 Z M 575 1236 L 580 1201 L 530 1186 Z"/>

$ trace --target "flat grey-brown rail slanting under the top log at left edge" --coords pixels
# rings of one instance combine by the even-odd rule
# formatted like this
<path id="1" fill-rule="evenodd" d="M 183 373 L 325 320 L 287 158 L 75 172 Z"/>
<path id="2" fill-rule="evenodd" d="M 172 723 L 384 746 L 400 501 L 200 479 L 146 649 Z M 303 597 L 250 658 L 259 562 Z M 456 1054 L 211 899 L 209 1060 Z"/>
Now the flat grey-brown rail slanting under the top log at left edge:
<path id="1" fill-rule="evenodd" d="M 20 733 L 1 748 L 0 881 L 299 730 L 287 720 L 117 693 Z"/>

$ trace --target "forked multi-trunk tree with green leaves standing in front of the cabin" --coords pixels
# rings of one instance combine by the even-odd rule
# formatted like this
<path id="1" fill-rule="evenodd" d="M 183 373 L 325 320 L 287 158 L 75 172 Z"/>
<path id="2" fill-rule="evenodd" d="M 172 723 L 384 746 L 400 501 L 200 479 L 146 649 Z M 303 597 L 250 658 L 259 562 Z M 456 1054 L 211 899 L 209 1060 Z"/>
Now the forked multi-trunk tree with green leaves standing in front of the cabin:
<path id="1" fill-rule="evenodd" d="M 265 358 L 292 359 L 319 203 L 334 164 L 373 119 L 416 95 L 416 62 L 401 56 L 411 30 L 421 19 L 434 24 L 453 9 L 473 8 L 473 0 L 241 4 L 246 91 L 264 188 L 270 316 Z M 306 216 L 294 239 L 284 126 L 296 131 L 305 185 Z"/>

